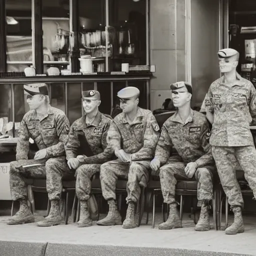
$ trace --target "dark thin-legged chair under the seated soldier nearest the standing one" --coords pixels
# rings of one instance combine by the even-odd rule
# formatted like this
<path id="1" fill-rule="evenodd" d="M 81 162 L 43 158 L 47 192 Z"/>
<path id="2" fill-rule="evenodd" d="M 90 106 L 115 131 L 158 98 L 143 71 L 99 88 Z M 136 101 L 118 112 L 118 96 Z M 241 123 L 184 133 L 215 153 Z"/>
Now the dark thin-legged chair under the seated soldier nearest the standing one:
<path id="1" fill-rule="evenodd" d="M 217 224 L 217 209 L 216 206 L 218 205 L 216 202 L 217 199 L 217 192 L 218 190 L 214 187 L 213 189 L 213 200 L 212 200 L 212 208 L 213 208 L 213 222 L 215 229 L 218 229 Z M 153 197 L 152 200 L 152 224 L 151 227 L 154 228 L 154 222 L 155 222 L 155 195 L 161 194 L 161 185 L 159 180 L 149 180 L 148 186 L 146 187 L 146 204 L 147 204 L 147 216 L 146 216 L 146 223 L 148 222 L 148 214 L 149 214 L 149 204 L 150 204 L 150 197 Z M 179 217 L 182 224 L 182 215 L 183 215 L 183 196 L 196 196 L 197 195 L 197 181 L 195 180 L 178 180 L 176 184 L 175 194 L 180 196 L 179 201 Z M 191 211 L 192 213 L 195 213 L 195 206 L 193 205 Z M 168 211 L 168 209 L 167 209 Z M 164 203 L 162 203 L 162 220 L 165 221 L 164 217 Z M 196 223 L 195 220 L 195 214 L 194 214 L 194 223 Z"/>

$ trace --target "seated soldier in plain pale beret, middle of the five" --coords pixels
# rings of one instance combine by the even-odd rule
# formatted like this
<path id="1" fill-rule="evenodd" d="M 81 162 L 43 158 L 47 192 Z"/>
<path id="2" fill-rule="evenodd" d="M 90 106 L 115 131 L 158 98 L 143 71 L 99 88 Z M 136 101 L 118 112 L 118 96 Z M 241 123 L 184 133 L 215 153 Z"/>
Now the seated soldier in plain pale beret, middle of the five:
<path id="1" fill-rule="evenodd" d="M 117 179 L 127 179 L 128 204 L 123 228 L 134 228 L 135 204 L 139 199 L 140 186 L 146 186 L 149 178 L 150 160 L 159 136 L 159 126 L 150 110 L 138 107 L 139 90 L 126 87 L 118 91 L 122 113 L 111 122 L 107 139 L 118 159 L 100 166 L 100 182 L 103 197 L 109 205 L 105 218 L 98 225 L 121 224 L 117 210 L 115 184 Z"/>

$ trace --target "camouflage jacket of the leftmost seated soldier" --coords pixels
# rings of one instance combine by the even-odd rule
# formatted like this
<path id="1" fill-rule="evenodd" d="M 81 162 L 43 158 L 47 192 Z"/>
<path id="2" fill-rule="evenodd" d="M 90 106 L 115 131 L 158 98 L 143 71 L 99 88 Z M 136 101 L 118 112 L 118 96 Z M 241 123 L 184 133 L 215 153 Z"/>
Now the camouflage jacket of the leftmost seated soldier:
<path id="1" fill-rule="evenodd" d="M 48 113 L 40 120 L 35 110 L 29 110 L 20 123 L 16 160 L 28 158 L 29 137 L 39 149 L 46 148 L 46 158 L 64 156 L 68 131 L 69 121 L 62 110 L 49 106 Z"/>

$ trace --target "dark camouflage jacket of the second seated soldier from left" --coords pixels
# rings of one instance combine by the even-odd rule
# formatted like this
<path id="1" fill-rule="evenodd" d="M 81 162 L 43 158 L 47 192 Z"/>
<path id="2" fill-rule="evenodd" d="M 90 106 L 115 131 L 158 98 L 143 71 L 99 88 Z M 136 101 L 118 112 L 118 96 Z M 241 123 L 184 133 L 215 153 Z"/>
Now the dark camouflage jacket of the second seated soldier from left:
<path id="1" fill-rule="evenodd" d="M 84 155 L 83 163 L 103 163 L 109 161 L 112 152 L 106 142 L 106 134 L 111 118 L 98 111 L 90 125 L 85 123 L 86 116 L 75 120 L 65 144 L 66 159 Z M 86 145 L 82 144 L 86 141 Z"/>

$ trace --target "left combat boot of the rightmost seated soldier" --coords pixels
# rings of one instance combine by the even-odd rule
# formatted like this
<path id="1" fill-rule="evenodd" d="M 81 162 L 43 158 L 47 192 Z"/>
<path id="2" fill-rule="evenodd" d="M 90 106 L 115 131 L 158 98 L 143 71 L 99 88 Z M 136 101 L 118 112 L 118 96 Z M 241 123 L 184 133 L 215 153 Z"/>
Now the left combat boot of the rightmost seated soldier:
<path id="1" fill-rule="evenodd" d="M 172 229 L 181 227 L 176 203 L 169 204 L 169 216 L 167 220 L 158 225 L 158 229 Z"/>

